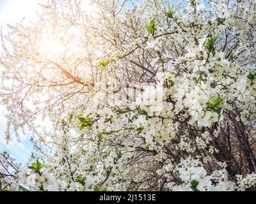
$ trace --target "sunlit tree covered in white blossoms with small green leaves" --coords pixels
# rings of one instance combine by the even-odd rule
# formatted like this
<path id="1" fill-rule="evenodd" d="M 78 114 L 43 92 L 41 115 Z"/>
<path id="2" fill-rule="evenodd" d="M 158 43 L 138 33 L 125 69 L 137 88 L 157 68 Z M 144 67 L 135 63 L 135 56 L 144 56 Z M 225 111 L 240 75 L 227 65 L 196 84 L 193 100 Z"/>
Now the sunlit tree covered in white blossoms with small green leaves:
<path id="1" fill-rule="evenodd" d="M 35 153 L 0 190 L 255 191 L 255 1 L 92 4 L 1 32 L 6 140 Z"/>

